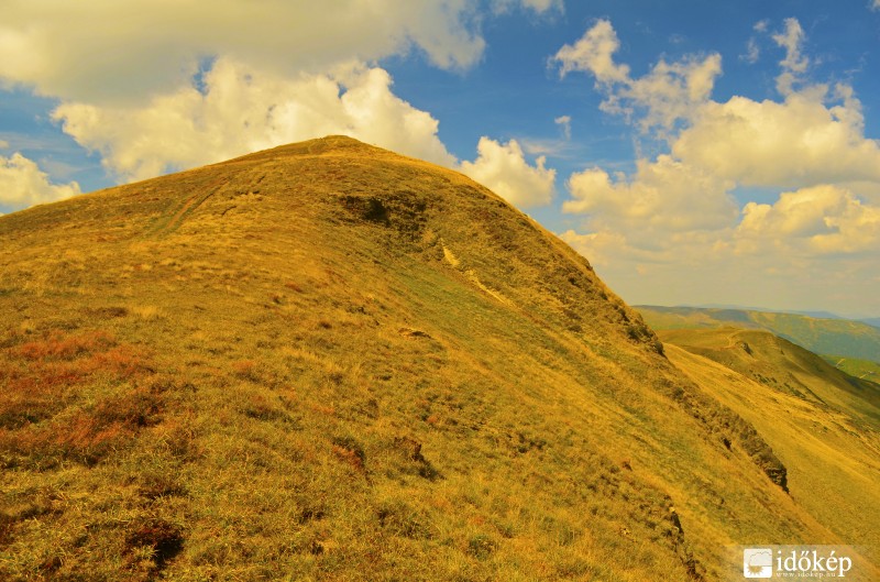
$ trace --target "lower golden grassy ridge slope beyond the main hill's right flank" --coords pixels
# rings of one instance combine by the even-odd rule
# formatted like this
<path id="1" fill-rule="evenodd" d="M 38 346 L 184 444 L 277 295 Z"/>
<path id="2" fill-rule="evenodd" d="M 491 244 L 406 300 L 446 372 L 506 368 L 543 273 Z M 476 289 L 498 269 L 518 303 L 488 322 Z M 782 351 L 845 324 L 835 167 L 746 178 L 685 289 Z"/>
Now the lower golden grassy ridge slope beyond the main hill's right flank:
<path id="1" fill-rule="evenodd" d="M 752 421 L 779 452 L 799 504 L 850 543 L 880 548 L 880 385 L 766 331 L 661 337 L 676 366 Z"/>

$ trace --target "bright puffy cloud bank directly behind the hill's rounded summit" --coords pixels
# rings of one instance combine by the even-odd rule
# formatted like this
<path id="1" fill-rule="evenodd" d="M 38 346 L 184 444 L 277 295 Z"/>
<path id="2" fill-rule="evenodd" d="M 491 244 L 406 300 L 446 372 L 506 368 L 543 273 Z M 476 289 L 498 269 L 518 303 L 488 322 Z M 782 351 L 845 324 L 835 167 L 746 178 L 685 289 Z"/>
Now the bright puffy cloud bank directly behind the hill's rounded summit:
<path id="1" fill-rule="evenodd" d="M 100 151 L 105 166 L 123 179 L 333 133 L 454 164 L 437 136 L 437 120 L 391 86 L 378 67 L 288 79 L 221 58 L 200 88 L 190 85 L 144 107 L 65 103 L 54 117 L 78 143 Z"/>

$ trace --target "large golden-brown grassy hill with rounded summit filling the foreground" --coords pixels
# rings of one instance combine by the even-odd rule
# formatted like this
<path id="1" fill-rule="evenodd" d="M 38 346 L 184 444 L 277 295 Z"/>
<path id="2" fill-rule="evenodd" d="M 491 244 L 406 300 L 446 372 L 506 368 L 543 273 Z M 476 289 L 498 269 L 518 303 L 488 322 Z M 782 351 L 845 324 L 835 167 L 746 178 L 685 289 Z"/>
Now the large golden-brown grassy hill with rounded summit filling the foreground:
<path id="1" fill-rule="evenodd" d="M 346 138 L 0 217 L 0 333 L 3 580 L 718 580 L 848 541 L 584 259 Z"/>

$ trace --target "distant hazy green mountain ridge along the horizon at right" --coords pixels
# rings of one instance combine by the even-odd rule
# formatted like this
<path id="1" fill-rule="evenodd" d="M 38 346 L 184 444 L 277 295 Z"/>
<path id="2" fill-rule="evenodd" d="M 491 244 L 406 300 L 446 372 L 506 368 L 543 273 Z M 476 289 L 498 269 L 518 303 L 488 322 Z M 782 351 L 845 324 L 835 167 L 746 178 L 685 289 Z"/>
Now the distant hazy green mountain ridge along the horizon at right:
<path id="1" fill-rule="evenodd" d="M 880 362 L 880 328 L 864 321 L 746 309 L 637 306 L 653 329 L 763 329 L 818 354 Z"/>

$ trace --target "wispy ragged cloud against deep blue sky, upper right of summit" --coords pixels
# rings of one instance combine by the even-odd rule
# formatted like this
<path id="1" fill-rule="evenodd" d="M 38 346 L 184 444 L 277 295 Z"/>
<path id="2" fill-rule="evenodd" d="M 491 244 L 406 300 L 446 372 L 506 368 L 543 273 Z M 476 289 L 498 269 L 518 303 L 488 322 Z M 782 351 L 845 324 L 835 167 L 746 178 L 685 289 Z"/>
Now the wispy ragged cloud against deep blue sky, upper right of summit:
<path id="1" fill-rule="evenodd" d="M 634 79 L 627 65 L 614 62 L 619 46 L 610 22 L 600 20 L 575 44 L 560 48 L 553 59 L 560 63 L 561 76 L 580 70 L 595 77 L 596 87 L 606 95 L 601 106 L 604 111 L 627 118 L 644 112 L 639 120 L 642 131 L 670 130 L 676 121 L 688 119 L 708 99 L 722 72 L 721 56 L 712 54 L 678 63 L 661 59 L 649 74 Z"/>

